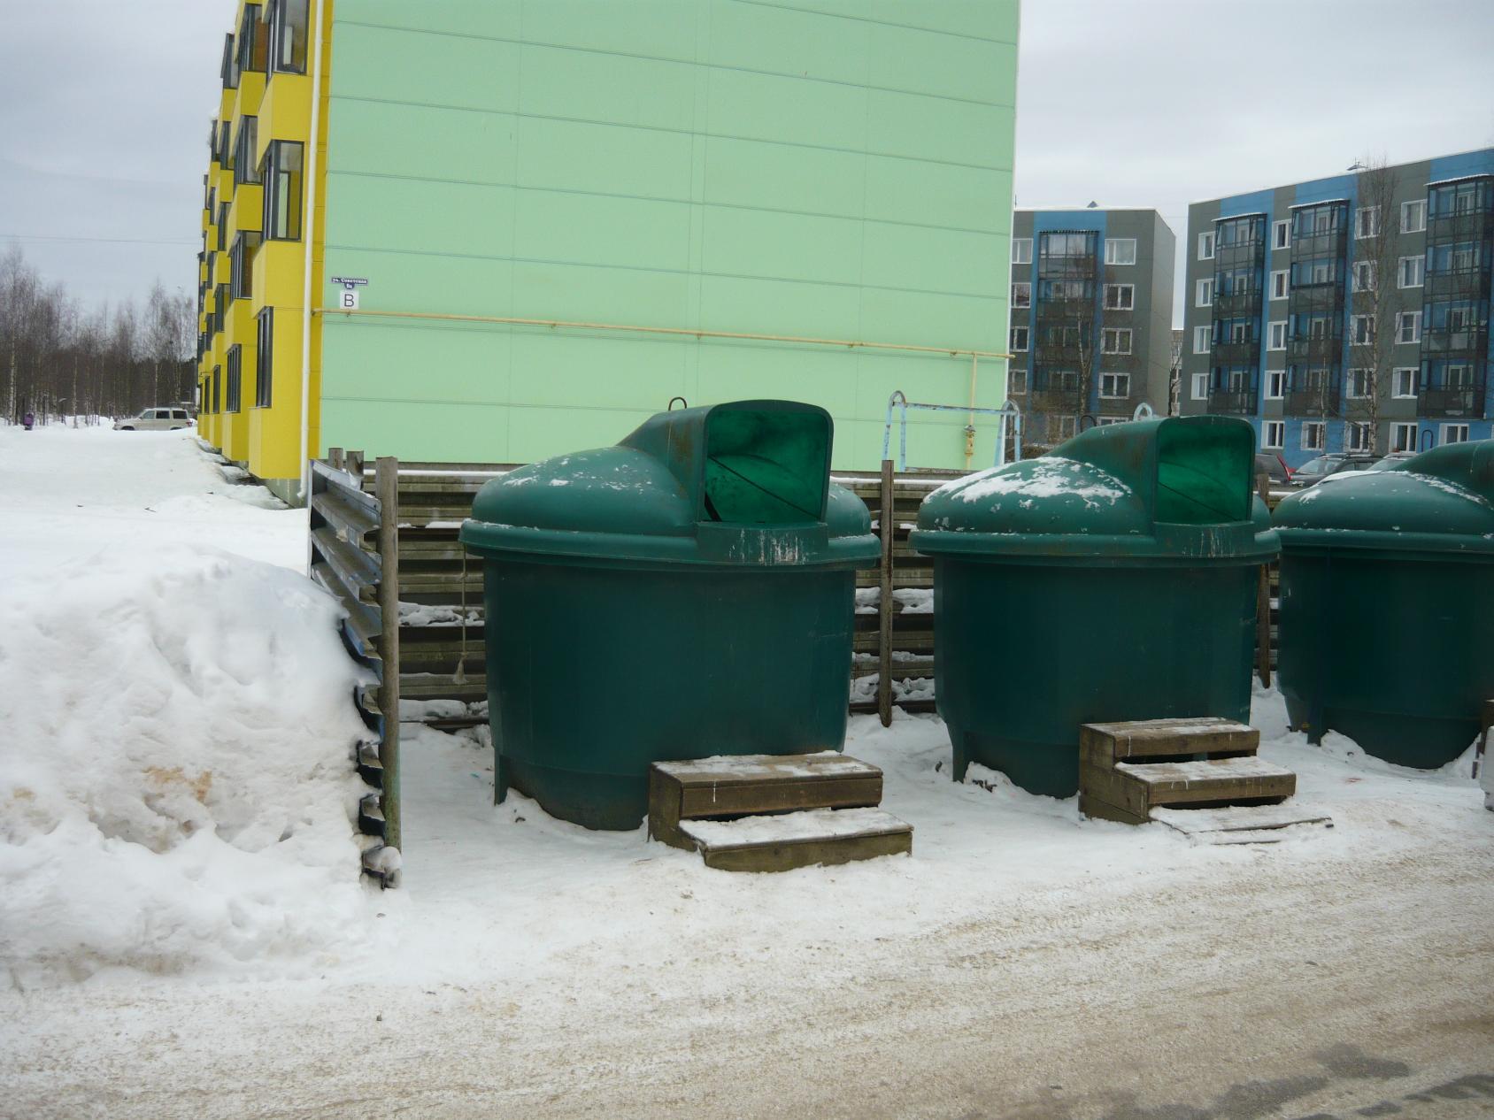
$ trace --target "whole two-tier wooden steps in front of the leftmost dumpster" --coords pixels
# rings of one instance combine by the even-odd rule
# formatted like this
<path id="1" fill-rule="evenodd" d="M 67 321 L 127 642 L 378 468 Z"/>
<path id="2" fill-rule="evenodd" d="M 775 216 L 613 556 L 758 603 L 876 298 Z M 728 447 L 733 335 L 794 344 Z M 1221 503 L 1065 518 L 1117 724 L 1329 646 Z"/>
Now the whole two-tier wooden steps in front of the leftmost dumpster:
<path id="1" fill-rule="evenodd" d="M 911 851 L 911 826 L 880 803 L 881 771 L 832 751 L 656 762 L 648 772 L 648 835 L 723 871 Z"/>

